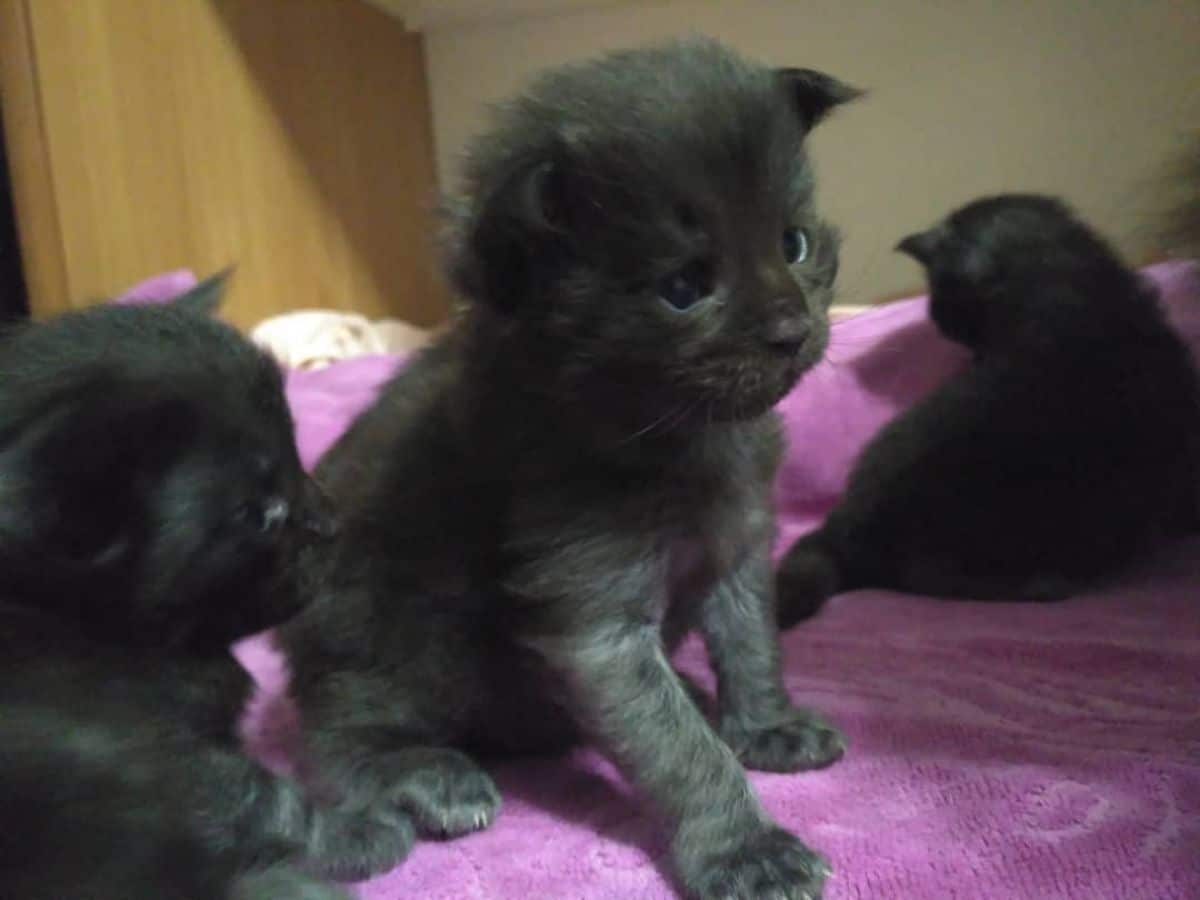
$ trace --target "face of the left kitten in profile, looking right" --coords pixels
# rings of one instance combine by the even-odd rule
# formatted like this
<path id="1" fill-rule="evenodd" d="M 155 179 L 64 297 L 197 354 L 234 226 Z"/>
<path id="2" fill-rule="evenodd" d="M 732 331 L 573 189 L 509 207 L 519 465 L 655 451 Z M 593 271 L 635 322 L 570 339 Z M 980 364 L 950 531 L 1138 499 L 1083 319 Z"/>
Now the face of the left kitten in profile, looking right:
<path id="1" fill-rule="evenodd" d="M 167 641 L 221 652 L 290 618 L 300 594 L 289 572 L 329 528 L 300 468 L 278 373 L 263 360 L 240 397 L 185 400 L 192 427 L 139 494 L 138 616 Z"/>

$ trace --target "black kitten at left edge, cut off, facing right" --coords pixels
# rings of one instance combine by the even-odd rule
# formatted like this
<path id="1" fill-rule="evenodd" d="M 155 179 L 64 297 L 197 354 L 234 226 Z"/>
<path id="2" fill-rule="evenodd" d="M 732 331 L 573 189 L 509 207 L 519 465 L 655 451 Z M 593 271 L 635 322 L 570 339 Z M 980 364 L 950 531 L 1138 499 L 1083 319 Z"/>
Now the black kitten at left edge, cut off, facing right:
<path id="1" fill-rule="evenodd" d="M 0 342 L 0 896 L 334 898 L 281 864 L 407 851 L 236 744 L 228 644 L 300 608 L 329 520 L 276 366 L 203 314 L 220 288 Z"/>

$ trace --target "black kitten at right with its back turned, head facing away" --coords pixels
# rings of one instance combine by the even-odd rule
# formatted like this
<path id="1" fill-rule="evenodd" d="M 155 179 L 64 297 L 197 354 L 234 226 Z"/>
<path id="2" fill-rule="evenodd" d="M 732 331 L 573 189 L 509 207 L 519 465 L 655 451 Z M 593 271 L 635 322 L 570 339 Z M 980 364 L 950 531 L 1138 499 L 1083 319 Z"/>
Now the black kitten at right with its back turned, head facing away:
<path id="1" fill-rule="evenodd" d="M 1196 526 L 1196 373 L 1103 240 L 1055 199 L 1004 196 L 898 250 L 976 360 L 875 437 L 788 552 L 781 624 L 864 587 L 1052 600 Z"/>

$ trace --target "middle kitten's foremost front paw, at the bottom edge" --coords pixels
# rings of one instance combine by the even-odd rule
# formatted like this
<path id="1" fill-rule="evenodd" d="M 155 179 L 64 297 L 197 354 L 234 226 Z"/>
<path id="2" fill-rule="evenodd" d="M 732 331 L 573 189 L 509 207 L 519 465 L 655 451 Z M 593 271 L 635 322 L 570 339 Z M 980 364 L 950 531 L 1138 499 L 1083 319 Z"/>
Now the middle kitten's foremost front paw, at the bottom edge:
<path id="1" fill-rule="evenodd" d="M 820 900 L 829 864 L 793 834 L 762 826 L 684 871 L 696 900 Z"/>

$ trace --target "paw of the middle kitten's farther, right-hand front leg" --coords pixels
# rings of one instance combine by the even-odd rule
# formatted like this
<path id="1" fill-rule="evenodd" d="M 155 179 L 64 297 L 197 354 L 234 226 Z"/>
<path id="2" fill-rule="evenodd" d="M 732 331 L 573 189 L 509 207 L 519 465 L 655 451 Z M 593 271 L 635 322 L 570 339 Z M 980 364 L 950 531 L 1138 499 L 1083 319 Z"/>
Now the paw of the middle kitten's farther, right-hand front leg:
<path id="1" fill-rule="evenodd" d="M 792 707 L 769 725 L 727 724 L 721 737 L 748 769 L 804 772 L 823 769 L 846 752 L 846 739 L 809 709 Z"/>

